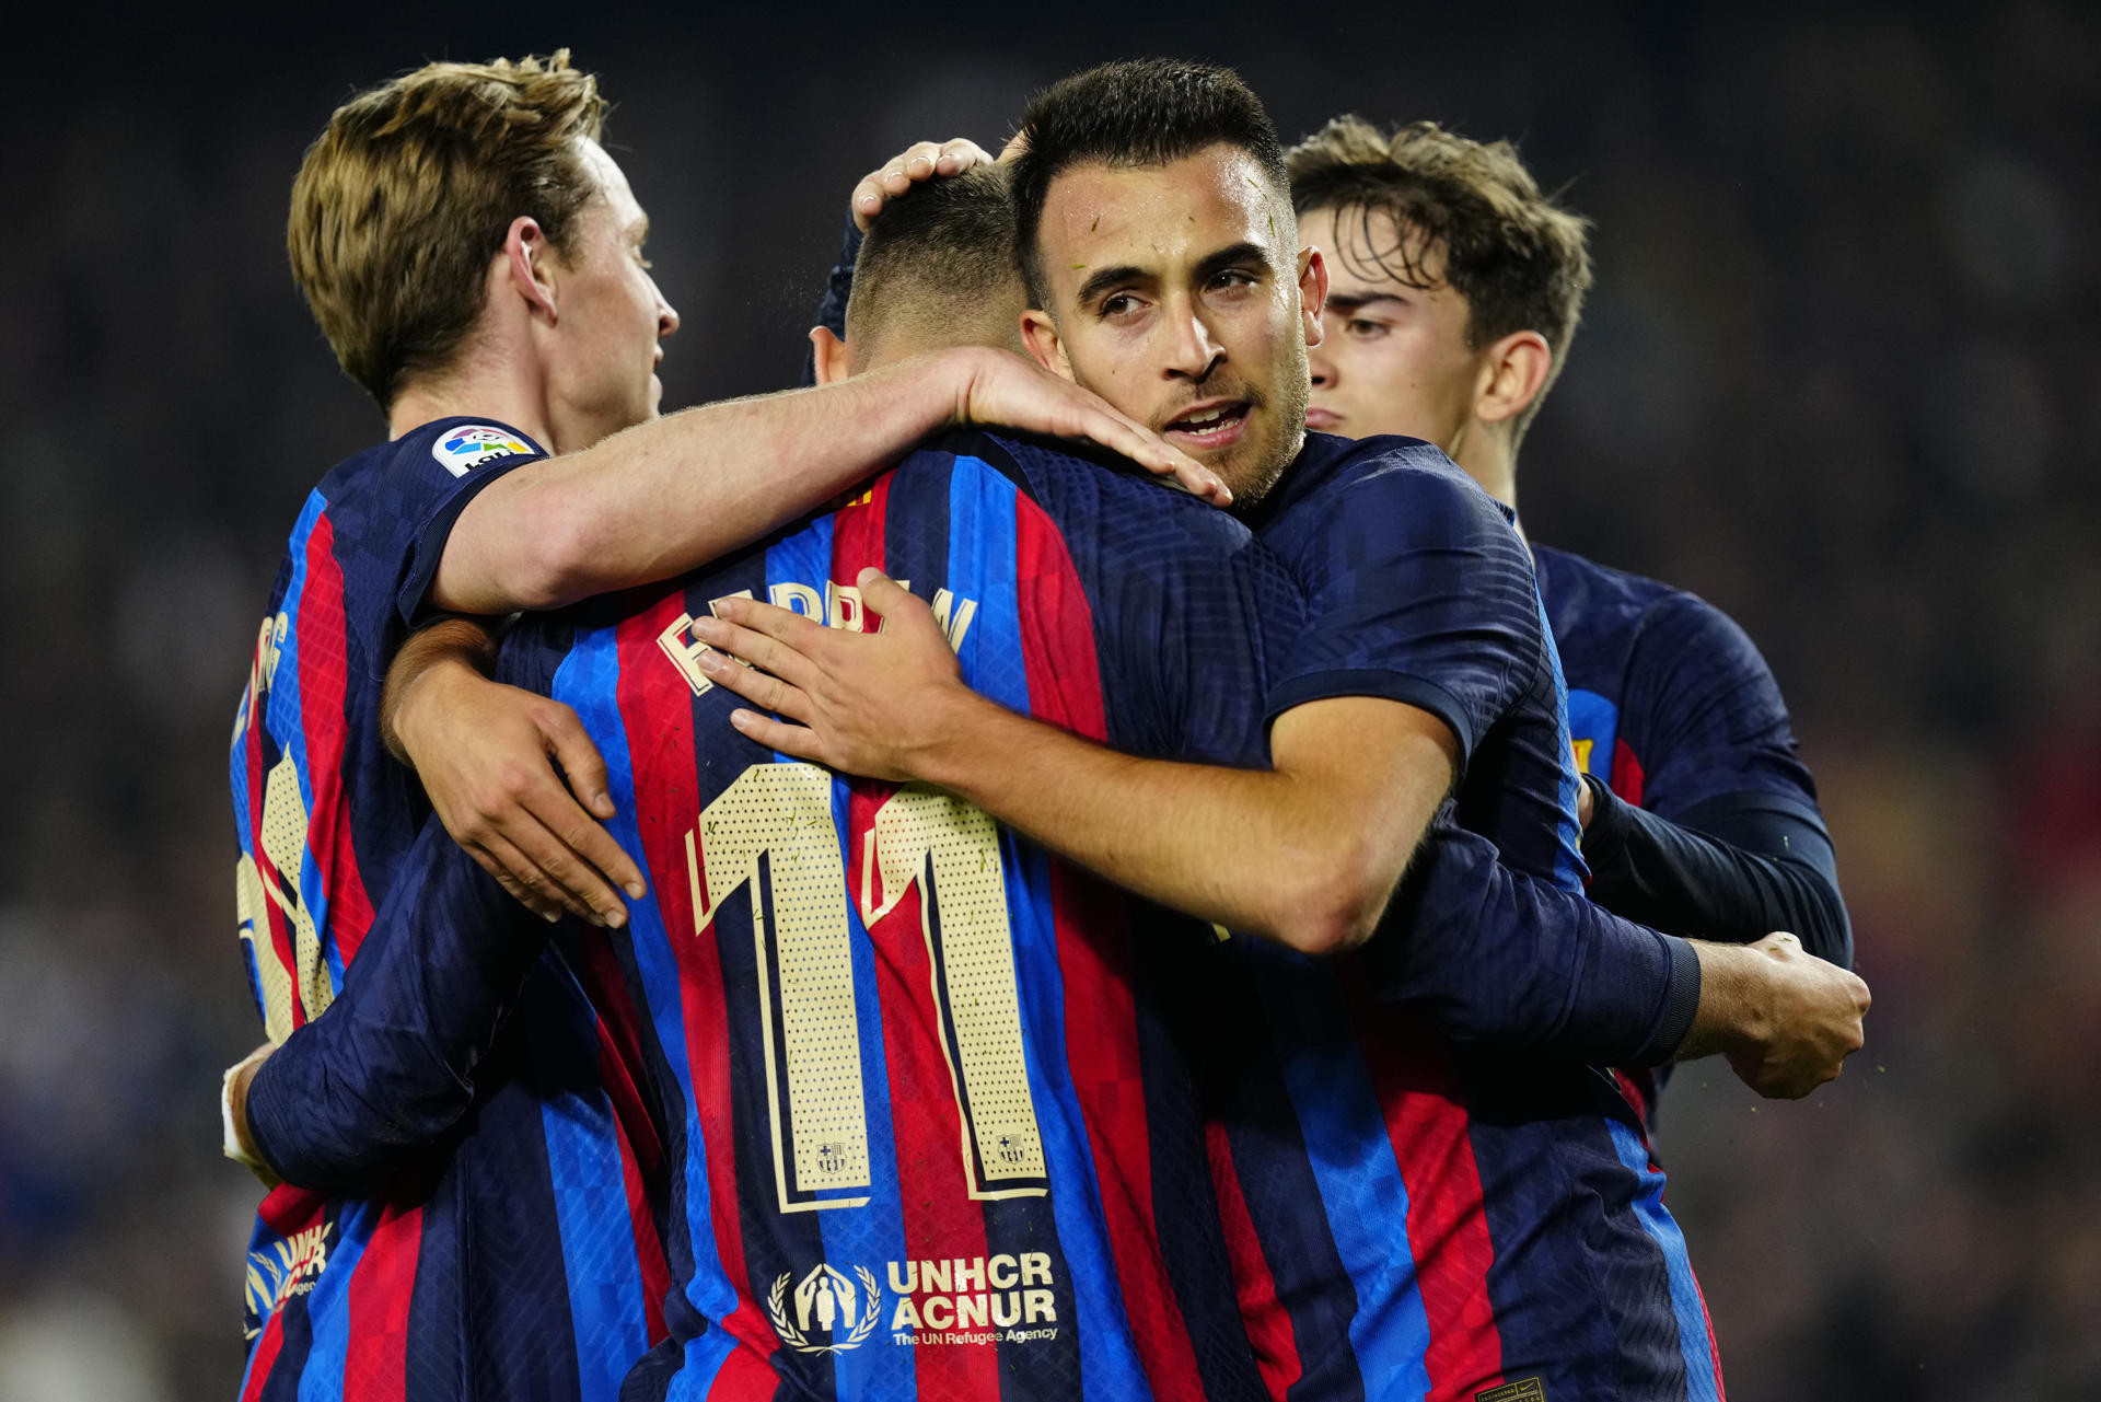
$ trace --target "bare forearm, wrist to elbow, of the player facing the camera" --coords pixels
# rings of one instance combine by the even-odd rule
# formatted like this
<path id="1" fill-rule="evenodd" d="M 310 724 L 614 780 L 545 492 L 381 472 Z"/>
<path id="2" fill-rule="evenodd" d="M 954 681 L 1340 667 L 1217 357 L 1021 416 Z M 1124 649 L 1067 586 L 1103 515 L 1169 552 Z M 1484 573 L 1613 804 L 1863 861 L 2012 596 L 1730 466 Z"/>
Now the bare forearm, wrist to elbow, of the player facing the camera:
<path id="1" fill-rule="evenodd" d="M 1135 759 L 975 696 L 952 717 L 929 782 L 1139 895 L 1315 954 L 1372 931 L 1450 776 L 1429 752 L 1445 778 L 1427 801 L 1376 780 L 1338 792 L 1332 776 Z"/>

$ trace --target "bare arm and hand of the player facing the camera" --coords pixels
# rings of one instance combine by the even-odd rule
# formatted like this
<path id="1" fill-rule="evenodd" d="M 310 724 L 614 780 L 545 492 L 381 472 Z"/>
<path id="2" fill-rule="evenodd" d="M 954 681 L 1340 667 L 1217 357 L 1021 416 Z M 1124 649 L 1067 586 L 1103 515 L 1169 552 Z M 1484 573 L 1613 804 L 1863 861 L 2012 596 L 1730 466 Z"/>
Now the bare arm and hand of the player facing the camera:
<path id="1" fill-rule="evenodd" d="M 1273 769 L 1137 759 L 971 692 L 922 599 L 868 570 L 878 635 L 723 599 L 693 637 L 706 675 L 798 725 L 731 721 L 836 769 L 956 792 L 1053 851 L 1160 904 L 1326 954 L 1366 940 L 1452 784 L 1450 729 L 1427 710 L 1338 696 L 1271 729 Z M 874 700 L 880 696 L 882 700 Z"/>

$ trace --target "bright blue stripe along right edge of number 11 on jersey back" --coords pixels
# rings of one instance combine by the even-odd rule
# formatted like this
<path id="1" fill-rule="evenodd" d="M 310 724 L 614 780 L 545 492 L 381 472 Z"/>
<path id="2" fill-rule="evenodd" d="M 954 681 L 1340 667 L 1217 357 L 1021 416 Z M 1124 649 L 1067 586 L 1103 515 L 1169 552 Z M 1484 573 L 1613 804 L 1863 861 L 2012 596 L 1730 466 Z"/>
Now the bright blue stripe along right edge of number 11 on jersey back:
<path id="1" fill-rule="evenodd" d="M 956 458 L 950 479 L 948 586 L 979 601 L 977 622 L 964 635 L 962 668 L 975 689 L 1027 715 L 1015 555 L 1015 486 L 977 458 Z M 1013 834 L 1002 832 L 1000 845 L 1006 870 L 1017 877 L 1006 889 L 1006 906 L 1015 940 L 1015 982 L 1021 990 L 1021 1036 L 1025 1047 L 1036 1049 L 1025 1064 L 1044 1164 L 1053 1185 L 1072 1183 L 1080 1190 L 1053 1190 L 1050 1196 L 1078 1314 L 1080 1385 L 1088 1398 L 1147 1398 L 1151 1389 L 1130 1339 L 1086 1122 L 1072 1074 L 1065 1072 L 1065 982 L 1050 912 L 1050 862 L 1040 847 Z M 1050 1076 L 1050 1068 L 1065 1074 Z"/>

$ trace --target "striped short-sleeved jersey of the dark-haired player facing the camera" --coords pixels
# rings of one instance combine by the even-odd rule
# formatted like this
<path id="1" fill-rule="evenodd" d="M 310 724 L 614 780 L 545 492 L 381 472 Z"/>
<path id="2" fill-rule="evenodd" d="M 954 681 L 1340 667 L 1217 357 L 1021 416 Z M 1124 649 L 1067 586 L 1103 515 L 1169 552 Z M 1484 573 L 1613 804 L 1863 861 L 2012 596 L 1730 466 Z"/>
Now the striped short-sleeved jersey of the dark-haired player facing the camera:
<path id="1" fill-rule="evenodd" d="M 1565 689 L 1506 513 L 1424 444 L 1309 435 L 1258 538 L 1309 605 L 1269 710 L 1431 710 L 1460 742 L 1460 824 L 1576 889 Z M 1525 982 L 1523 944 L 1483 948 Z M 1719 1396 L 1662 1173 L 1605 1072 L 1437 1036 L 1376 996 L 1374 954 L 1223 952 L 1208 1135 L 1273 1396 Z"/>

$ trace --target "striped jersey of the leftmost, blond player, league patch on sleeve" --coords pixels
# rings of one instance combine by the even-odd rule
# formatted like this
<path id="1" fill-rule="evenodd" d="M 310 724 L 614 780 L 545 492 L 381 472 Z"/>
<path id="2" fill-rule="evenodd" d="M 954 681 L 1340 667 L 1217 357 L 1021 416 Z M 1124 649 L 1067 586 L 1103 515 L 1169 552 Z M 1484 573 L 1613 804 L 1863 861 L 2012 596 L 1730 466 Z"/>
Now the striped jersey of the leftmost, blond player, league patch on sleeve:
<path id="1" fill-rule="evenodd" d="M 506 425 L 443 418 L 338 465 L 294 525 L 231 746 L 242 942 L 273 1043 L 340 994 L 429 813 L 378 740 L 387 664 L 418 622 L 458 513 L 540 456 Z M 544 1057 L 561 1043 L 597 1045 L 574 982 L 550 973 L 534 998 L 555 1028 Z M 632 1154 L 595 1078 L 559 1091 L 492 1097 L 435 1169 L 345 1181 L 338 1196 L 271 1192 L 248 1257 L 242 1398 L 521 1396 L 546 1391 L 546 1379 L 576 1391 L 588 1360 L 571 1339 L 603 1310 L 586 1299 L 571 1312 L 561 1272 L 534 1253 L 567 1244 L 557 1179 L 620 1190 Z M 597 1219 L 590 1234 L 603 1236 Z M 653 1230 L 618 1236 L 630 1257 L 649 1255 Z M 649 1341 L 639 1303 L 624 1318 L 622 1356 L 599 1360 L 611 1368 L 603 1396 Z"/>

